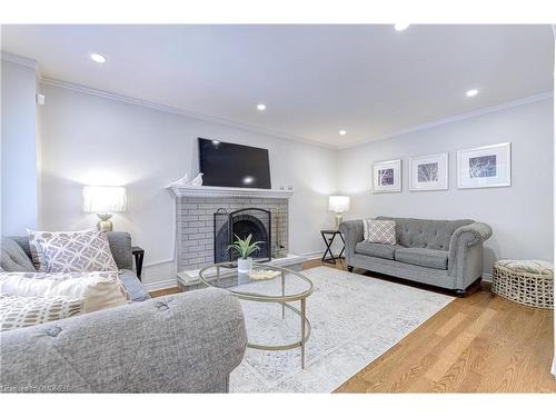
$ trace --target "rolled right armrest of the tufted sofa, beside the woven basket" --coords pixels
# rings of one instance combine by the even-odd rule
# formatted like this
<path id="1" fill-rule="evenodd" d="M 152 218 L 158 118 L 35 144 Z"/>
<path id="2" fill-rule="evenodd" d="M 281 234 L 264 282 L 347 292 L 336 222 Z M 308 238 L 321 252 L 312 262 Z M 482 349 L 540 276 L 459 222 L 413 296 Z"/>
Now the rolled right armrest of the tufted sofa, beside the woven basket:
<path id="1" fill-rule="evenodd" d="M 492 235 L 493 229 L 490 226 L 475 221 L 457 228 L 451 236 L 448 255 L 448 274 L 458 277 L 458 281 L 461 281 L 459 282 L 460 287 L 471 284 L 467 282 L 465 278 L 467 275 L 475 277 L 477 271 L 480 275 L 483 269 L 483 242 Z M 470 274 L 471 271 L 473 274 Z M 465 289 L 465 287 L 461 289 Z"/>

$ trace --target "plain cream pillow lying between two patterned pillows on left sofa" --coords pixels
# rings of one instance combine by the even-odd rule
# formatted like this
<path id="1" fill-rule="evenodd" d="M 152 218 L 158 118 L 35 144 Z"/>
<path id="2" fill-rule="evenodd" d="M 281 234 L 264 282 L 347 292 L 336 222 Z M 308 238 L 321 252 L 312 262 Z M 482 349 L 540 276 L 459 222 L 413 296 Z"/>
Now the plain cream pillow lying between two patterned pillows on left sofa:
<path id="1" fill-rule="evenodd" d="M 0 272 L 0 292 L 21 297 L 83 299 L 83 312 L 129 302 L 118 272 Z"/>

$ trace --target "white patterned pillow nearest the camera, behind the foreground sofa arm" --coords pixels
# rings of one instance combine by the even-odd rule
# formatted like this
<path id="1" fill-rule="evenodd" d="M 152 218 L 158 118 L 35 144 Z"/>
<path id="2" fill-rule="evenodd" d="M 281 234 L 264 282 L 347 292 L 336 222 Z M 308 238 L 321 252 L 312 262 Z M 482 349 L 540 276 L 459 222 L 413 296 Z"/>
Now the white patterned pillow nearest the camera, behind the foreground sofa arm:
<path id="1" fill-rule="evenodd" d="M 82 312 L 83 300 L 69 297 L 19 297 L 0 294 L 0 331 L 41 325 Z"/>

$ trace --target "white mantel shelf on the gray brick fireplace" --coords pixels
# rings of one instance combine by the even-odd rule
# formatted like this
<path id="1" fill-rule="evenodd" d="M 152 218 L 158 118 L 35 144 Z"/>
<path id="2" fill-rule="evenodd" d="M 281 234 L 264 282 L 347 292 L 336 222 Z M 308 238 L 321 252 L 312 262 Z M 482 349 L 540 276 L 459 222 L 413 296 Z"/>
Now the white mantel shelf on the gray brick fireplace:
<path id="1" fill-rule="evenodd" d="M 209 187 L 209 186 L 173 186 L 168 189 L 176 197 L 255 197 L 255 198 L 290 198 L 292 190 L 271 190 L 261 188 Z"/>

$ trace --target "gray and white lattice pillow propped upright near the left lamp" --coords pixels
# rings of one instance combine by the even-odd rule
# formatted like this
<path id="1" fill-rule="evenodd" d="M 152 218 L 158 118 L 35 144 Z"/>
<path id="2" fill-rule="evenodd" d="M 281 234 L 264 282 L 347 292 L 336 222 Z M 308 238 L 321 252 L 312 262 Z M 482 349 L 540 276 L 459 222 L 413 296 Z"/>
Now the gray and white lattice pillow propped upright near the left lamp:
<path id="1" fill-rule="evenodd" d="M 29 231 L 41 272 L 117 271 L 103 230 Z M 34 259 L 34 255 L 33 255 Z"/>

